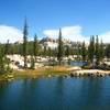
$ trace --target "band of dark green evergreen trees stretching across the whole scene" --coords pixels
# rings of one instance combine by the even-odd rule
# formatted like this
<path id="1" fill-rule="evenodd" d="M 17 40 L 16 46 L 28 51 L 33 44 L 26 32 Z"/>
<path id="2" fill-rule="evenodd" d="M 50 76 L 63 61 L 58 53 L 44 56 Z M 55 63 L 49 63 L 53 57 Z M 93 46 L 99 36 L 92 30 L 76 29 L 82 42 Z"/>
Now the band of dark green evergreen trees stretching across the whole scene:
<path id="1" fill-rule="evenodd" d="M 73 46 L 64 45 L 62 29 L 59 29 L 58 46 L 54 50 L 46 47 L 45 45 L 42 47 L 36 34 L 34 35 L 34 41 L 28 41 L 28 36 L 29 31 L 25 20 L 23 29 L 23 43 L 11 44 L 8 40 L 6 44 L 0 44 L 0 69 L 4 69 L 6 65 L 7 69 L 9 68 L 8 65 L 10 62 L 7 58 L 7 55 L 13 54 L 19 54 L 24 57 L 24 68 L 28 68 L 28 55 L 31 55 L 32 68 L 34 68 L 36 56 L 57 57 L 58 65 L 62 65 L 64 56 L 68 57 L 69 55 L 77 55 L 77 59 L 88 62 L 89 64 L 92 64 L 96 58 L 96 65 L 100 65 L 100 62 L 102 63 L 105 57 L 110 58 L 110 44 L 103 44 L 102 40 L 99 41 L 98 35 L 90 36 L 88 45 L 84 41 L 81 46 L 77 45 L 77 48 L 73 48 Z"/>

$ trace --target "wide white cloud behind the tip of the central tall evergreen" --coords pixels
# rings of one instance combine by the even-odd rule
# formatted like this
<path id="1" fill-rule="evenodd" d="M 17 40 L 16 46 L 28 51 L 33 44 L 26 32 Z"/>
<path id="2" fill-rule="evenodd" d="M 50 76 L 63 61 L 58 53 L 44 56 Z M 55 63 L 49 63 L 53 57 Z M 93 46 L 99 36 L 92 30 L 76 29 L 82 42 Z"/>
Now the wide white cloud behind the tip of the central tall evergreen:
<path id="1" fill-rule="evenodd" d="M 44 30 L 44 35 L 50 36 L 50 37 L 58 37 L 58 32 L 59 30 Z M 82 28 L 79 25 L 75 25 L 75 26 L 64 26 L 62 28 L 62 34 L 63 37 L 65 38 L 69 38 L 72 41 L 80 41 L 82 42 L 88 41 L 88 37 L 85 37 L 82 35 Z"/>

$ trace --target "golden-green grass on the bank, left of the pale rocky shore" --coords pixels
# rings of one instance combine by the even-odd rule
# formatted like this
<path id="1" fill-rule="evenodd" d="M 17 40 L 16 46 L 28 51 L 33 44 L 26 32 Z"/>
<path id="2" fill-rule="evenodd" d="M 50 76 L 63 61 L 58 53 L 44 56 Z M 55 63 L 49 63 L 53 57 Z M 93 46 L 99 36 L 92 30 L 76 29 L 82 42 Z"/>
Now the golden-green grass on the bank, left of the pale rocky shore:
<path id="1" fill-rule="evenodd" d="M 69 74 L 68 67 L 55 66 L 50 68 L 38 68 L 38 69 L 25 69 L 25 70 L 13 70 L 12 73 L 7 73 L 0 75 L 0 80 L 13 80 L 13 79 L 24 79 L 24 78 L 38 78 L 38 77 L 51 77 L 51 76 L 63 76 Z"/>

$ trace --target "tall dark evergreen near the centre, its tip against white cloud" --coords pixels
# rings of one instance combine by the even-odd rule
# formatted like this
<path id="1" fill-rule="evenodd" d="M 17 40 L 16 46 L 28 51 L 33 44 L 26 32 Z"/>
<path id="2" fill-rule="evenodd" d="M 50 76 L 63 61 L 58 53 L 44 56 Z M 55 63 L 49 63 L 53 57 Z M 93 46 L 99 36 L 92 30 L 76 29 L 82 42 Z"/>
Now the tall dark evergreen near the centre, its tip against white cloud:
<path id="1" fill-rule="evenodd" d="M 64 51 L 63 51 L 63 41 L 62 41 L 62 30 L 59 30 L 59 36 L 58 36 L 58 48 L 57 48 L 57 59 L 59 65 L 62 64 Z"/>

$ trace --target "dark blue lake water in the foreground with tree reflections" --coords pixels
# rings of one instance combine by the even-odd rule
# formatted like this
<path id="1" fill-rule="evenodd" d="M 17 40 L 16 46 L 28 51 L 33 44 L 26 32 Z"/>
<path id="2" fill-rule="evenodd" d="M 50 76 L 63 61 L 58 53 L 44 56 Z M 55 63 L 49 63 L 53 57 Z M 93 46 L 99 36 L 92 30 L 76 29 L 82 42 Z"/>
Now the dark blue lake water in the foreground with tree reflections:
<path id="1" fill-rule="evenodd" d="M 110 77 L 2 82 L 0 110 L 110 110 Z"/>

